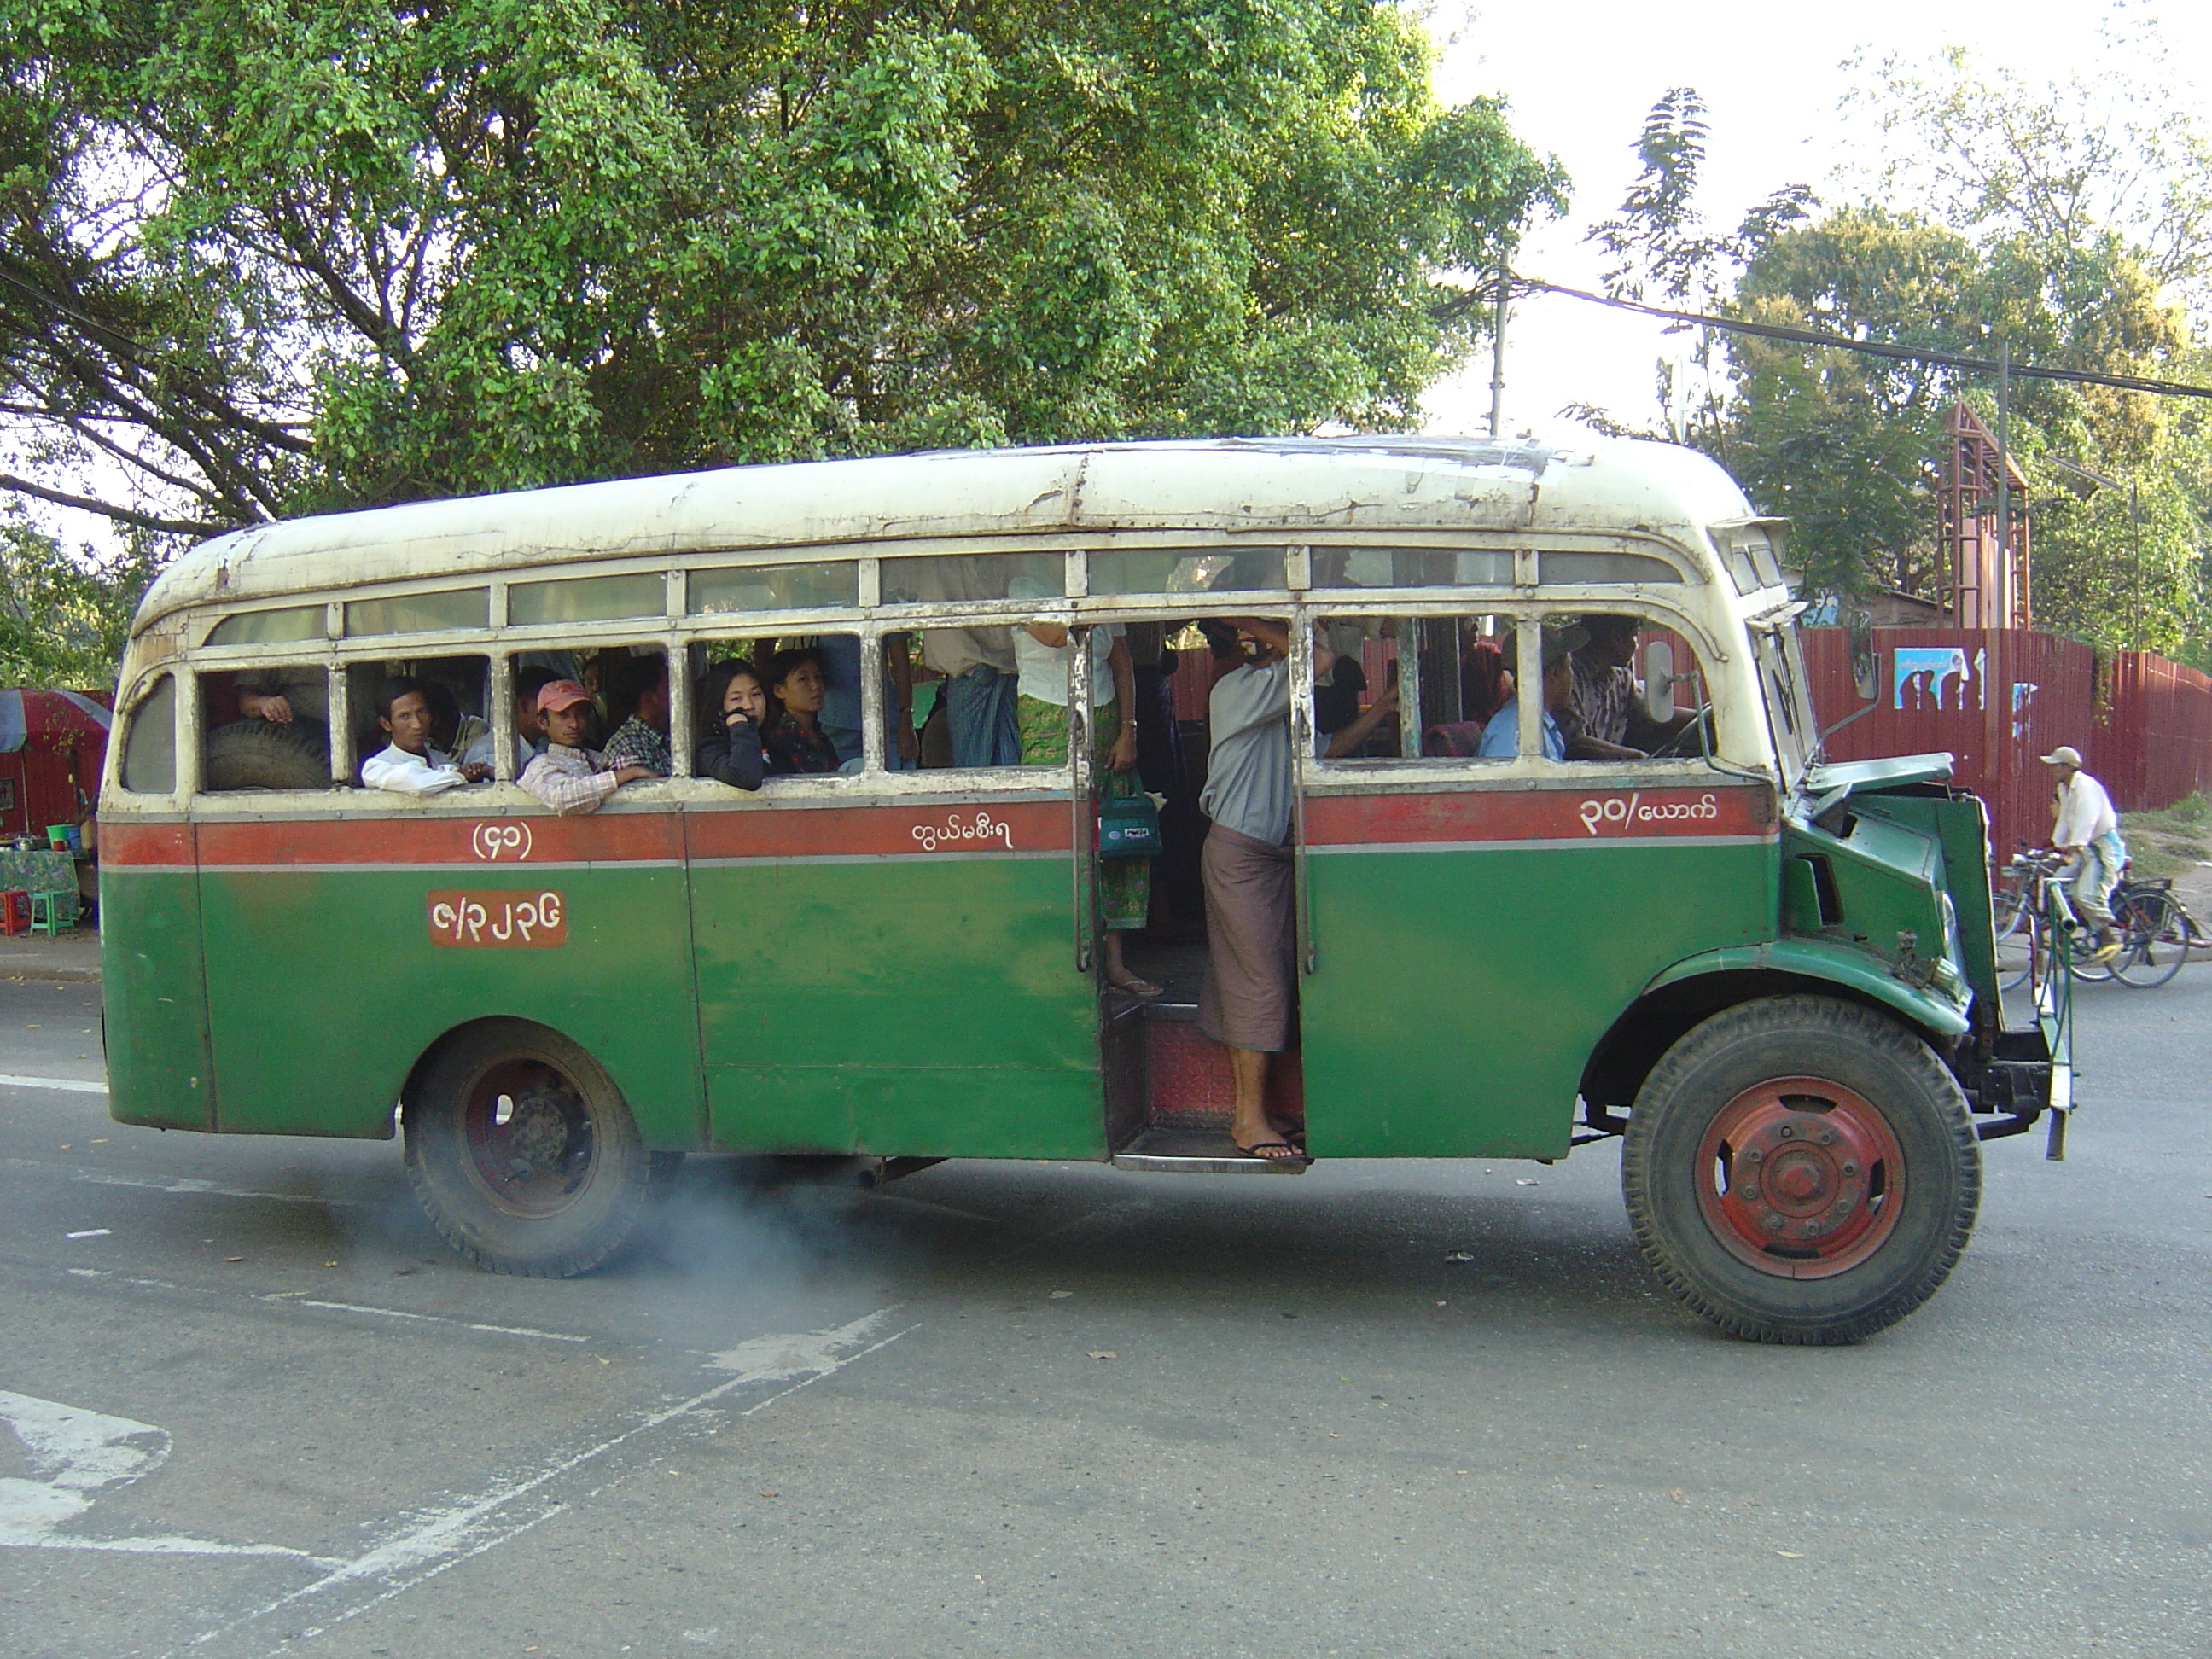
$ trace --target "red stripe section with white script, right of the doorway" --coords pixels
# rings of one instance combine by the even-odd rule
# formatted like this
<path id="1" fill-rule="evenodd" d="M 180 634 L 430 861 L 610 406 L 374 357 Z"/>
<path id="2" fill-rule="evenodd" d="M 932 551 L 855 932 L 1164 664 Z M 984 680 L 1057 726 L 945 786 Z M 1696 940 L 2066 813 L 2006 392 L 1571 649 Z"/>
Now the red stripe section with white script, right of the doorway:
<path id="1" fill-rule="evenodd" d="M 1765 787 L 1467 790 L 1462 794 L 1327 794 L 1305 803 L 1310 847 L 1422 841 L 1652 841 L 1763 836 Z"/>

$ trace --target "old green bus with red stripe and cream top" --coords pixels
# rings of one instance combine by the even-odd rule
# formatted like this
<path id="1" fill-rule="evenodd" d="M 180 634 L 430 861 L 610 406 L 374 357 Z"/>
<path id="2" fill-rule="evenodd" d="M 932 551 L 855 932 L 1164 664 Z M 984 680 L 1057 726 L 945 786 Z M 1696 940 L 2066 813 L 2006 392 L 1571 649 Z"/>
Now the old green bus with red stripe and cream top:
<path id="1" fill-rule="evenodd" d="M 1978 1139 L 2051 1113 L 2057 1150 L 2070 1071 L 2057 1009 L 2006 1026 L 1986 818 L 1949 757 L 1823 763 L 1781 533 L 1663 445 L 1298 438 L 737 467 L 217 538 L 146 593 L 122 666 L 111 1110 L 400 1133 L 440 1232 L 524 1274 L 604 1261 L 684 1152 L 1221 1175 L 1621 1135 L 1637 1239 L 1690 1307 L 1856 1340 L 1958 1259 Z M 1128 936 L 1152 1000 L 1099 967 L 1086 641 L 1119 624 L 1164 672 L 1208 617 L 1292 641 L 1285 1164 L 1228 1144 L 1188 940 Z M 1593 617 L 1628 619 L 1652 741 L 1548 759 L 1540 697 L 1500 728 L 1495 692 Z M 949 763 L 902 703 L 949 688 L 931 641 L 1037 624 L 1071 641 L 1062 752 Z M 1316 637 L 1363 664 L 1345 752 Z M 692 776 L 708 666 L 794 644 L 845 664 L 843 768 Z M 635 657 L 668 668 L 670 774 L 549 810 L 515 783 L 515 688 L 604 701 Z M 361 785 L 396 672 L 449 692 L 487 781 Z M 1511 752 L 1464 741 L 1484 721 Z"/>

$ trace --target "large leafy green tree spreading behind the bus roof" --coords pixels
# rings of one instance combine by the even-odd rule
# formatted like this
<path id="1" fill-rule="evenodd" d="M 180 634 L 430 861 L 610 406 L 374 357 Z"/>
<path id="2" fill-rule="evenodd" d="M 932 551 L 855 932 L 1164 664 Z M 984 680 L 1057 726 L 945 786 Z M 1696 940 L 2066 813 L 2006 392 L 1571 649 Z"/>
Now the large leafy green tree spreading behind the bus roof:
<path id="1" fill-rule="evenodd" d="M 0 487 L 1400 427 L 1562 179 L 1383 0 L 9 0 Z"/>

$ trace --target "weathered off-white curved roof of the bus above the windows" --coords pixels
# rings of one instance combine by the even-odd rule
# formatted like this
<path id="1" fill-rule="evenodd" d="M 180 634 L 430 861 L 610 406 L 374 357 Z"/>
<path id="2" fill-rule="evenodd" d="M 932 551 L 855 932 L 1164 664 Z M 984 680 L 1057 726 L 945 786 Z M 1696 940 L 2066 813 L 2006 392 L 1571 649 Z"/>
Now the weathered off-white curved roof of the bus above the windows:
<path id="1" fill-rule="evenodd" d="M 1750 518 L 1674 445 L 1480 438 L 1214 438 L 723 467 L 259 524 L 201 542 L 148 588 L 179 608 L 546 564 L 721 549 L 1071 531 L 1657 531 Z"/>

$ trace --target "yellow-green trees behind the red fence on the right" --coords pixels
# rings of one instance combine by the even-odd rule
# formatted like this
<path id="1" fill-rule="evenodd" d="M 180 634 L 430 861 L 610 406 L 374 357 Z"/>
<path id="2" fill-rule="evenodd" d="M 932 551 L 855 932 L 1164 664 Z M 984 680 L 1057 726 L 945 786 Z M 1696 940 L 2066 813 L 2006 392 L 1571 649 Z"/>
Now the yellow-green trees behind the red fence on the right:
<path id="1" fill-rule="evenodd" d="M 1916 199 L 1856 201 L 1814 219 L 1809 195 L 1785 190 L 1732 237 L 1701 228 L 1703 106 L 1688 88 L 1670 91 L 1637 142 L 1644 173 L 1621 215 L 1593 230 L 1615 259 L 1608 288 L 1907 352 L 1993 361 L 2008 347 L 2017 363 L 2168 378 L 2192 354 L 2201 365 L 2174 303 L 2177 283 L 2192 281 L 2201 223 L 2190 181 L 2157 192 L 2166 217 L 2152 223 L 2141 179 L 2130 195 L 2095 168 L 2084 173 L 2081 157 L 2110 159 L 2115 144 L 2152 131 L 2141 111 L 2121 97 L 2117 113 L 2106 111 L 2110 126 L 2093 128 L 2097 111 L 2079 82 L 2035 100 L 2011 80 L 1973 82 L 1962 58 L 1942 64 L 1951 80 L 1940 86 L 1896 64 L 1878 82 L 1887 131 L 1927 146 L 1885 173 L 1900 188 L 1918 179 Z M 2073 131 L 2026 131 L 2064 119 Z M 2194 142 L 2190 117 L 2174 108 L 2152 126 L 2163 135 L 2159 157 Z M 1969 190 L 1973 179 L 1982 186 Z M 2024 201 L 2008 204 L 2011 190 Z M 1949 597 L 1936 498 L 1947 409 L 1966 398 L 1995 425 L 1993 376 L 1741 332 L 1728 332 L 1723 347 L 1701 338 L 1688 367 L 1703 398 L 1683 396 L 1674 365 L 1659 365 L 1672 434 L 1730 467 L 1763 511 L 1794 522 L 1792 557 L 1809 591 Z M 2033 526 L 2037 619 L 2106 644 L 2179 650 L 2208 619 L 2212 409 L 2015 378 L 2008 416 L 2013 458 L 2031 478 L 2022 511 Z M 2073 489 L 2081 473 L 2046 460 L 2126 476 L 2141 513 L 2126 487 L 2084 495 Z"/>

